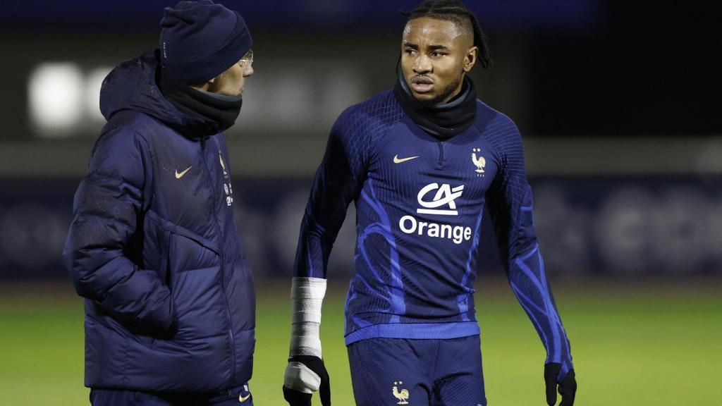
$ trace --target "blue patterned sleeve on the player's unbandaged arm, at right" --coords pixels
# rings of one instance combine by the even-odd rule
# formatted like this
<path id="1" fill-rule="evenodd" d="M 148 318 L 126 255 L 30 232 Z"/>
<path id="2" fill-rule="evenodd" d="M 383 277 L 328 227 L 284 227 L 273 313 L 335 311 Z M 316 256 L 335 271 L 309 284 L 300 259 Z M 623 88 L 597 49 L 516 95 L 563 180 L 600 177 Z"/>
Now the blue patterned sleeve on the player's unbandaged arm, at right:
<path id="1" fill-rule="evenodd" d="M 526 179 L 521 135 L 509 121 L 497 146 L 499 170 L 487 194 L 500 255 L 509 283 L 547 350 L 547 363 L 573 368 L 570 344 L 549 288 L 534 233 L 531 188 Z"/>

